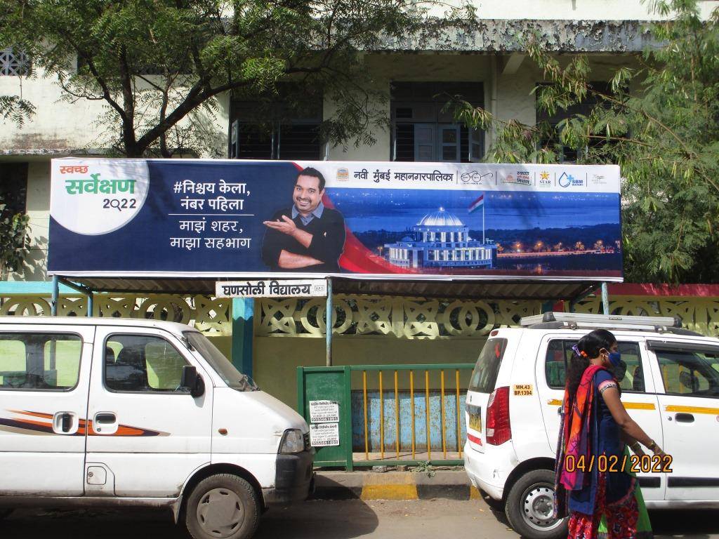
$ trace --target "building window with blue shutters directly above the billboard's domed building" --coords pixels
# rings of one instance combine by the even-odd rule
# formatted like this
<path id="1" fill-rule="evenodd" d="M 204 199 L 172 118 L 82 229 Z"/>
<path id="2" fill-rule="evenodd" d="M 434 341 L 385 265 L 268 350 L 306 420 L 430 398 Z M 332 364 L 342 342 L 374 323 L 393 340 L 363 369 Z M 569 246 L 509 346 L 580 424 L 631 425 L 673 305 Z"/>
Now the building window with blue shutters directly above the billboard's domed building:
<path id="1" fill-rule="evenodd" d="M 390 87 L 393 161 L 477 162 L 484 155 L 484 132 L 454 121 L 443 110 L 450 96 L 484 106 L 482 83 L 405 83 Z"/>

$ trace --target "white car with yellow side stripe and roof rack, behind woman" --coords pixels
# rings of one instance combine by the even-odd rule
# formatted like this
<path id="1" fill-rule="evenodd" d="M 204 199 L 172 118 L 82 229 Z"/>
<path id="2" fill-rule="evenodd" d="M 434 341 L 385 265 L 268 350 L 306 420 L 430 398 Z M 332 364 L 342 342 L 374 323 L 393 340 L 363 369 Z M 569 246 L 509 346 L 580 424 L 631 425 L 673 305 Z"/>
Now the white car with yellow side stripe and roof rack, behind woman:
<path id="1" fill-rule="evenodd" d="M 464 465 L 527 538 L 566 537 L 552 519 L 564 372 L 595 328 L 614 333 L 629 415 L 672 456 L 671 473 L 637 466 L 649 508 L 719 507 L 719 339 L 672 318 L 545 313 L 492 331 L 467 392 Z M 661 466 L 659 466 L 661 468 Z"/>

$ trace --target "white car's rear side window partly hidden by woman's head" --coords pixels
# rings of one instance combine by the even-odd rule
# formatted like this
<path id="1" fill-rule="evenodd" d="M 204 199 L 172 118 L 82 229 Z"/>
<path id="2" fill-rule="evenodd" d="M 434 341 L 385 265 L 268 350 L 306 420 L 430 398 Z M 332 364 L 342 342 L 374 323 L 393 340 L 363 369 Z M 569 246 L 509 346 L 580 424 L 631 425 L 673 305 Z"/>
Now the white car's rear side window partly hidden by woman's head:
<path id="1" fill-rule="evenodd" d="M 567 365 L 572 360 L 572 346 L 576 340 L 554 339 L 549 341 L 544 359 L 544 376 L 546 384 L 554 390 L 563 390 L 566 380 Z M 644 392 L 644 370 L 641 367 L 641 355 L 636 343 L 619 343 L 622 363 L 614 369 L 622 391 Z"/>

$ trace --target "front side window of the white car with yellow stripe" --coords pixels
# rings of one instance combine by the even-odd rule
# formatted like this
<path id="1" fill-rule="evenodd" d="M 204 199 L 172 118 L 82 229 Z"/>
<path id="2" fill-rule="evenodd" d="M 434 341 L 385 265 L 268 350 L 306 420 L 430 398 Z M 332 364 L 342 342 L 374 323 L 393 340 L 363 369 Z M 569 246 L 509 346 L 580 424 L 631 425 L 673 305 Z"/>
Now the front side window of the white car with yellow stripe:
<path id="1" fill-rule="evenodd" d="M 685 397 L 719 397 L 719 350 L 656 350 L 664 392 Z"/>

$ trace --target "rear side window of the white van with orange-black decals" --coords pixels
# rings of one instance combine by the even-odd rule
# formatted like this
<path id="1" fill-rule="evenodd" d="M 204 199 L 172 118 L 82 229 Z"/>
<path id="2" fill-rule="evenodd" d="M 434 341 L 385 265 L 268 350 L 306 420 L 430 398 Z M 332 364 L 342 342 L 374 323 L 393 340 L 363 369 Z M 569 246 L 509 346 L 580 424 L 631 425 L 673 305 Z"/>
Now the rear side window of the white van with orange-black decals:
<path id="1" fill-rule="evenodd" d="M 72 390 L 83 341 L 60 333 L 0 333 L 0 390 Z"/>

